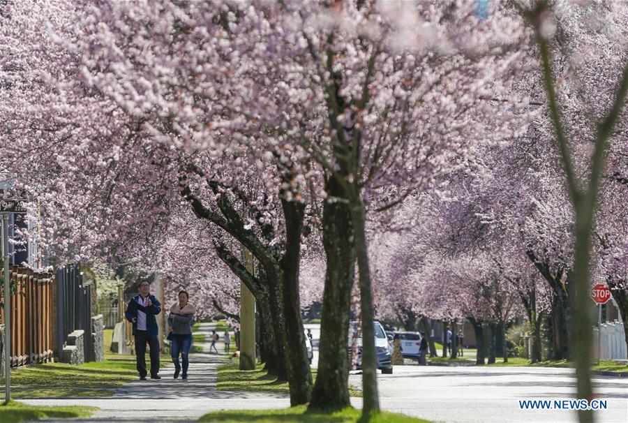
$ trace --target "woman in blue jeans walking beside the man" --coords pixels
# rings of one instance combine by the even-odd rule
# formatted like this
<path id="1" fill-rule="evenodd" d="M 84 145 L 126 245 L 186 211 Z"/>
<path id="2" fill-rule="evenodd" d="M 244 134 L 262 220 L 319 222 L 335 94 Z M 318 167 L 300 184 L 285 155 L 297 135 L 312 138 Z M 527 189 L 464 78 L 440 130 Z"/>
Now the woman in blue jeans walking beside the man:
<path id="1" fill-rule="evenodd" d="M 179 302 L 170 307 L 170 315 L 168 316 L 168 326 L 170 327 L 170 355 L 174 363 L 174 378 L 179 377 L 181 373 L 181 364 L 179 364 L 179 354 L 181 354 L 181 362 L 183 362 L 183 374 L 181 379 L 188 380 L 188 366 L 190 361 L 188 354 L 192 346 L 192 320 L 196 310 L 194 306 L 188 304 L 188 292 L 179 292 Z"/>

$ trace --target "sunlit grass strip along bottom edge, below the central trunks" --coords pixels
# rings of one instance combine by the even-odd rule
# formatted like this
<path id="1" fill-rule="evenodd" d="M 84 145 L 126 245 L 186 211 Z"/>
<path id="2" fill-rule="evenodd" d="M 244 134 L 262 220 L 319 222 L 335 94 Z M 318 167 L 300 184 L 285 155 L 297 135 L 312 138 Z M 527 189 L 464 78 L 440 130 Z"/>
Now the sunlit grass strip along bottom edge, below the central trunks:
<path id="1" fill-rule="evenodd" d="M 220 422 L 220 423 L 429 423 L 428 420 L 421 420 L 401 414 L 378 413 L 368 420 L 360 419 L 361 411 L 355 408 L 344 408 L 343 410 L 325 413 L 324 411 L 311 412 L 305 406 L 282 408 L 280 410 L 231 410 L 218 411 L 202 416 L 199 422 Z"/>

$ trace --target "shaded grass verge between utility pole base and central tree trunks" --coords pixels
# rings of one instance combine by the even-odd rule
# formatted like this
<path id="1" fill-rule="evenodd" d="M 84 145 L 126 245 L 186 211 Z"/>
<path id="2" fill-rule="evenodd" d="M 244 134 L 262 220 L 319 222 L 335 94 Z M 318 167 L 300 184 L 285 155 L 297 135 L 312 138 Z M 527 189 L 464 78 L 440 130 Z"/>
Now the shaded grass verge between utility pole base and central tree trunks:
<path id="1" fill-rule="evenodd" d="M 278 382 L 275 376 L 263 370 L 263 364 L 257 364 L 255 370 L 240 370 L 238 359 L 218 366 L 218 381 L 216 389 L 219 391 L 255 391 L 287 394 L 290 392 L 287 382 Z M 316 380 L 316 370 L 312 370 L 312 377 Z M 362 396 L 362 392 L 349 387 L 351 396 Z"/>

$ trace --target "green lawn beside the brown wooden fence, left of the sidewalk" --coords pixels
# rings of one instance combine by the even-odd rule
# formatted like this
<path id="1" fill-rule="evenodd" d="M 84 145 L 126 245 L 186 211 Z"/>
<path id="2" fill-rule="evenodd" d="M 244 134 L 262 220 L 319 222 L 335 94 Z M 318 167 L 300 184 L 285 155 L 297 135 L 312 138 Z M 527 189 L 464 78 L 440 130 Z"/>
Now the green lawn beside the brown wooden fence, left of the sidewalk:
<path id="1" fill-rule="evenodd" d="M 135 357 L 105 359 L 80 366 L 38 364 L 11 371 L 11 393 L 15 398 L 111 396 L 115 388 L 135 378 Z M 0 383 L 0 392 L 3 392 L 4 378 L 0 378 Z"/>

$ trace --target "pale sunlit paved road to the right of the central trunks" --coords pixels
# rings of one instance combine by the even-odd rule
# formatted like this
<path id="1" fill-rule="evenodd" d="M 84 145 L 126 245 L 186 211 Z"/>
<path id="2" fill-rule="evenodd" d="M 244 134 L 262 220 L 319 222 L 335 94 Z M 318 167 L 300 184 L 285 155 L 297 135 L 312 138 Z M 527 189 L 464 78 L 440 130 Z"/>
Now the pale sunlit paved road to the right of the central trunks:
<path id="1" fill-rule="evenodd" d="M 361 387 L 361 374 L 350 383 Z M 519 410 L 518 399 L 572 399 L 576 390 L 571 369 L 534 367 L 396 366 L 394 374 L 378 373 L 380 404 L 396 413 L 435 422 L 576 422 L 568 410 Z M 599 399 L 608 409 L 597 422 L 628 422 L 628 380 L 596 377 Z M 354 399 L 354 406 L 361 401 Z"/>

